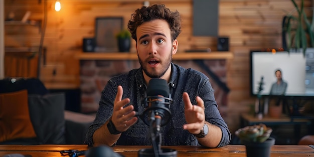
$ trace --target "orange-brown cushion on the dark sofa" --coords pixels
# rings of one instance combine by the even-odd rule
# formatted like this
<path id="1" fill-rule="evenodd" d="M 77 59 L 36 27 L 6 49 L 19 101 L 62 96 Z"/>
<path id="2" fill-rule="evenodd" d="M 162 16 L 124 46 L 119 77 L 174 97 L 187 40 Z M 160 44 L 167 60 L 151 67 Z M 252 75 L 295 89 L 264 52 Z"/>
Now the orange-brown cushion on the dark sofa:
<path id="1" fill-rule="evenodd" d="M 33 137 L 27 90 L 0 94 L 0 142 Z"/>

